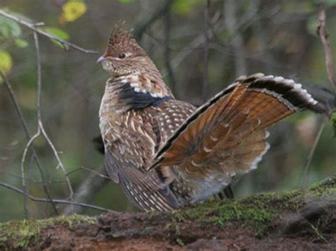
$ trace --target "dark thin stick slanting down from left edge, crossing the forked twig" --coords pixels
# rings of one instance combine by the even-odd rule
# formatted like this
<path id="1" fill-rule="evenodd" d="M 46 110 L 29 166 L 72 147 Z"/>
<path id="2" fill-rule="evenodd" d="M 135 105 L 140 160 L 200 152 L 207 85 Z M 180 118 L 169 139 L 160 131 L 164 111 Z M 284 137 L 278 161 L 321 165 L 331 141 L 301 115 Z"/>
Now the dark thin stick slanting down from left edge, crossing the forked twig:
<path id="1" fill-rule="evenodd" d="M 13 105 L 14 105 L 14 108 L 16 110 L 16 113 L 18 114 L 18 117 L 19 117 L 20 122 L 22 124 L 23 131 L 25 132 L 26 137 L 27 137 L 27 139 L 29 141 L 30 140 L 30 132 L 29 132 L 29 129 L 28 129 L 28 125 L 26 123 L 26 119 L 23 117 L 23 113 L 21 111 L 21 107 L 20 107 L 20 105 L 18 105 L 18 101 L 16 99 L 16 95 L 15 95 L 15 93 L 13 91 L 13 88 L 11 87 L 11 83 L 9 82 L 9 80 L 6 78 L 6 76 L 3 74 L 2 71 L 0 71 L 0 76 L 4 80 L 4 84 L 5 84 L 6 88 L 7 88 L 7 91 L 9 92 L 9 96 L 11 97 L 11 101 L 13 102 Z M 36 164 L 38 166 L 38 170 L 40 172 L 41 180 L 42 180 L 42 183 L 43 183 L 43 189 L 45 191 L 47 199 L 49 199 L 49 201 L 51 202 L 52 209 L 55 211 L 55 214 L 58 214 L 57 206 L 52 201 L 52 197 L 50 196 L 50 192 L 49 192 L 49 190 L 47 188 L 47 184 L 45 183 L 45 175 L 43 173 L 43 168 L 42 168 L 42 165 L 40 163 L 40 159 L 38 158 L 38 155 L 36 154 L 35 147 L 31 146 L 31 148 L 32 148 L 32 151 L 33 151 L 33 156 L 35 158 Z"/>

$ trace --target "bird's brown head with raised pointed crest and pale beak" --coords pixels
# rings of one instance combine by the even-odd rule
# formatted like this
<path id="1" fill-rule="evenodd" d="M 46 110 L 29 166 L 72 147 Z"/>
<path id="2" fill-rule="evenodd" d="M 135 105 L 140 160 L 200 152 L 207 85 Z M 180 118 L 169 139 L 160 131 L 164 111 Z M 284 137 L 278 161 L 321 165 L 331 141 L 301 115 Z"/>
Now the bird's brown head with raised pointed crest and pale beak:
<path id="1" fill-rule="evenodd" d="M 107 49 L 97 62 L 113 78 L 150 71 L 154 66 L 132 33 L 123 30 L 121 26 L 114 28 Z"/>

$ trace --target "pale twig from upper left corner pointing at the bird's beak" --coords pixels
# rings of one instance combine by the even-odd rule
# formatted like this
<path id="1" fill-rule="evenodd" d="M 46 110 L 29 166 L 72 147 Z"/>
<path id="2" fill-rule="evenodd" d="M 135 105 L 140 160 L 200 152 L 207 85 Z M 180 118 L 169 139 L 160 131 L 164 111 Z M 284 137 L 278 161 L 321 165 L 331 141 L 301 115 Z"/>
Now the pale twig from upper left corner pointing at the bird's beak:
<path id="1" fill-rule="evenodd" d="M 41 35 L 44 35 L 45 37 L 49 37 L 52 40 L 55 40 L 57 42 L 60 42 L 65 48 L 72 47 L 74 49 L 79 50 L 80 52 L 84 52 L 86 54 L 98 54 L 98 52 L 91 50 L 91 49 L 84 49 L 82 47 L 79 47 L 78 45 L 74 45 L 71 42 L 67 42 L 65 40 L 60 39 L 60 37 L 55 37 L 54 35 L 51 35 L 50 33 L 47 33 L 44 30 L 41 30 L 40 28 L 36 28 L 35 23 L 28 23 L 26 21 L 23 21 L 21 18 L 18 18 L 17 16 L 12 15 L 11 13 L 8 13 L 6 11 L 3 11 L 0 9 L 0 16 L 5 16 L 6 18 L 9 18 L 13 21 L 16 21 L 16 23 L 20 23 L 21 25 L 26 26 L 30 30 L 35 31 L 36 33 L 39 33 Z M 40 25 L 41 23 L 38 23 Z"/>

